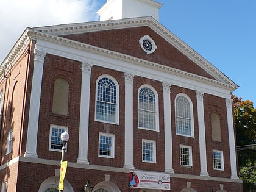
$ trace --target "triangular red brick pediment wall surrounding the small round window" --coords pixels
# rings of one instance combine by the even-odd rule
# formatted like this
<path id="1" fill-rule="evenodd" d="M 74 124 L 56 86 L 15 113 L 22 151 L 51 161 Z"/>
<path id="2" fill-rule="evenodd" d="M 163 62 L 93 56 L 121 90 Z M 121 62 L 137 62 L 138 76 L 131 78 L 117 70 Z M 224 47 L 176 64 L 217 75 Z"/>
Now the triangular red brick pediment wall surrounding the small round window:
<path id="1" fill-rule="evenodd" d="M 144 35 L 149 35 L 157 45 L 153 54 L 146 54 L 140 47 L 139 40 Z M 64 37 L 214 79 L 149 27 L 104 30 Z"/>

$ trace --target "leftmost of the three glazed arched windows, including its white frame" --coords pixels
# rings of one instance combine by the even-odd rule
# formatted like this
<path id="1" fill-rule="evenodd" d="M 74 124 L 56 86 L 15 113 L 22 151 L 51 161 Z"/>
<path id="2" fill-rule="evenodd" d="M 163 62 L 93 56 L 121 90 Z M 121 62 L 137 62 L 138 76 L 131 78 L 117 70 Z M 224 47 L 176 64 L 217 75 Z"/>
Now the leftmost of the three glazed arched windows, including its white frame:
<path id="1" fill-rule="evenodd" d="M 115 79 L 101 76 L 96 83 L 95 119 L 108 123 L 119 123 L 119 87 Z"/>

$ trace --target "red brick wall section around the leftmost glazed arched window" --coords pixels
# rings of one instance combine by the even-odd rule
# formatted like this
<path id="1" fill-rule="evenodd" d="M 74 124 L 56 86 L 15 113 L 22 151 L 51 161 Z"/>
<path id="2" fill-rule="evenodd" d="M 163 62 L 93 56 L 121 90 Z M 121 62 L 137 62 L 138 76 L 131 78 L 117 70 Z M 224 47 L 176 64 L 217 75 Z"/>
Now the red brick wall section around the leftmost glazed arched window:
<path id="1" fill-rule="evenodd" d="M 96 80 L 107 74 L 115 78 L 119 85 L 119 124 L 102 123 L 95 119 Z M 124 166 L 124 73 L 112 69 L 93 66 L 91 69 L 91 93 L 89 113 L 88 160 L 93 165 Z M 115 135 L 115 158 L 98 157 L 99 132 Z"/>

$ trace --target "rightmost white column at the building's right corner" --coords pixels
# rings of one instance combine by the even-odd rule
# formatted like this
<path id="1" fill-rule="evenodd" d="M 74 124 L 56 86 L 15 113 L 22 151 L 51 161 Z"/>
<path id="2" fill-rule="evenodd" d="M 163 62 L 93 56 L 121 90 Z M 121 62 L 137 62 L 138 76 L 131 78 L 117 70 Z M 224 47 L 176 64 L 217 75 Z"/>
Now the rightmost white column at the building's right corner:
<path id="1" fill-rule="evenodd" d="M 234 132 L 234 126 L 233 126 L 232 99 L 226 98 L 226 108 L 227 108 L 227 126 L 229 129 L 231 179 L 239 179 L 239 177 L 237 176 L 237 165 L 236 165 L 235 132 Z"/>

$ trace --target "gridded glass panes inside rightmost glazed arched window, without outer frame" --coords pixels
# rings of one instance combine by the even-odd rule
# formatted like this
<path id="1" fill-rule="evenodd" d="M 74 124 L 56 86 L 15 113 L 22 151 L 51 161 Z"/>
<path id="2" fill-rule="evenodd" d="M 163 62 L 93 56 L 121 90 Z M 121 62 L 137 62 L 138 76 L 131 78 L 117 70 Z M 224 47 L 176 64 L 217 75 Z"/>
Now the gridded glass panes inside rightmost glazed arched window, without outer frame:
<path id="1" fill-rule="evenodd" d="M 190 102 L 184 96 L 176 99 L 176 133 L 191 135 Z"/>

